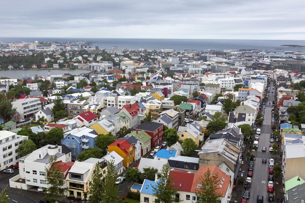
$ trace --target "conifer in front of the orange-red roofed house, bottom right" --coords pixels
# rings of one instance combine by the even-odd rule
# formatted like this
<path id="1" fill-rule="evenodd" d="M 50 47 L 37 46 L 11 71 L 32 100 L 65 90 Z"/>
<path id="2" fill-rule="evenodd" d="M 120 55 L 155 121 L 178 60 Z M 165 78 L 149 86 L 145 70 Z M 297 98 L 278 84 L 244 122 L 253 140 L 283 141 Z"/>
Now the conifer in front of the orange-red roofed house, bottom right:
<path id="1" fill-rule="evenodd" d="M 221 193 L 217 191 L 219 181 L 218 173 L 212 175 L 208 168 L 200 178 L 201 187 L 196 189 L 196 197 L 199 199 L 197 203 L 218 203 L 221 197 Z"/>

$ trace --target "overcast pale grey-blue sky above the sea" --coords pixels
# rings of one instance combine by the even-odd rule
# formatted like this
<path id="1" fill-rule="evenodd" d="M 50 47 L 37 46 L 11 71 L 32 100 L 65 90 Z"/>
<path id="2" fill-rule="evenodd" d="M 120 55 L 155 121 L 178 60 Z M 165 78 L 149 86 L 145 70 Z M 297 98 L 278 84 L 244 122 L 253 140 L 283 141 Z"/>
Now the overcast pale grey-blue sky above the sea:
<path id="1" fill-rule="evenodd" d="M 305 40 L 303 0 L 4 0 L 0 37 Z"/>

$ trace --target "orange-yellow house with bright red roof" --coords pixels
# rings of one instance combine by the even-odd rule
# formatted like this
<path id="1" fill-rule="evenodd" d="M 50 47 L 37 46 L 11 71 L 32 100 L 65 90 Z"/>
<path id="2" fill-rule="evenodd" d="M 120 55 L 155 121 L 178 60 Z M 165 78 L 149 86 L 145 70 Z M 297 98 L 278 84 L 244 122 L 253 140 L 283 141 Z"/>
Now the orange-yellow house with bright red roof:
<path id="1" fill-rule="evenodd" d="M 135 162 L 135 148 L 128 140 L 117 140 L 108 145 L 108 151 L 117 152 L 123 158 L 123 166 L 127 168 Z"/>

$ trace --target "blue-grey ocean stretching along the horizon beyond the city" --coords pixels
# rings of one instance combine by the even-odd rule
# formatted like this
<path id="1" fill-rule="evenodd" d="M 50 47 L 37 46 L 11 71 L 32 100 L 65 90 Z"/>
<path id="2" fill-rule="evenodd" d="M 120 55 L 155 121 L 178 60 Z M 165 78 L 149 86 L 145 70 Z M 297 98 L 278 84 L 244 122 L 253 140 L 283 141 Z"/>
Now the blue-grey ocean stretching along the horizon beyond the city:
<path id="1" fill-rule="evenodd" d="M 0 41 L 61 41 L 61 42 L 91 42 L 92 48 L 99 46 L 100 49 L 112 48 L 117 46 L 119 49 L 149 49 L 160 50 L 174 49 L 183 51 L 184 49 L 195 49 L 204 51 L 215 49 L 222 50 L 241 50 L 250 49 L 253 51 L 303 51 L 298 47 L 286 47 L 281 45 L 300 45 L 305 46 L 305 40 L 215 40 L 215 39 L 119 39 L 119 38 L 43 38 L 43 37 L 0 37 Z M 303 47 L 305 50 L 305 47 Z"/>

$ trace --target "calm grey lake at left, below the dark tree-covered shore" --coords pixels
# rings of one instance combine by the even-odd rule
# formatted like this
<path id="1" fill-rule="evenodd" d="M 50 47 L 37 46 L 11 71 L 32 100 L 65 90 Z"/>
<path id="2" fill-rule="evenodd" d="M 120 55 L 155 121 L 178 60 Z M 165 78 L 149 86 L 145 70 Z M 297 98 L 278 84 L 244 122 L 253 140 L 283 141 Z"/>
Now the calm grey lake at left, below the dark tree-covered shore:
<path id="1" fill-rule="evenodd" d="M 70 69 L 50 69 L 51 75 L 62 75 L 64 73 L 70 73 L 71 75 L 79 75 L 81 73 L 89 73 L 90 69 L 80 69 L 80 70 L 70 70 Z M 28 75 L 34 76 L 37 74 L 38 76 L 48 76 L 48 70 L 5 70 L 0 71 L 0 77 L 8 77 L 10 79 L 20 79 L 21 76 Z"/>

